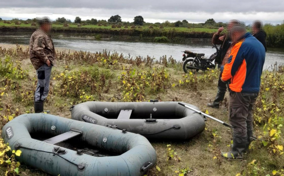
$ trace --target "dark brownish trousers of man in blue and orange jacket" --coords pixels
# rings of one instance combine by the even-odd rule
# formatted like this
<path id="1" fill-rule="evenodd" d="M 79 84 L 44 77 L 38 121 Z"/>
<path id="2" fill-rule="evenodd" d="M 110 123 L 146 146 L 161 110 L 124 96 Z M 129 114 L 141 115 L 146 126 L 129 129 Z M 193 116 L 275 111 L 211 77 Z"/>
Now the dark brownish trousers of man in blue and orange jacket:
<path id="1" fill-rule="evenodd" d="M 229 121 L 234 127 L 234 136 L 243 138 L 253 130 L 253 108 L 259 93 L 230 91 Z"/>

